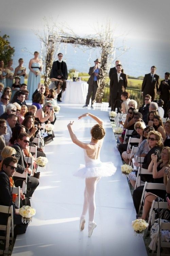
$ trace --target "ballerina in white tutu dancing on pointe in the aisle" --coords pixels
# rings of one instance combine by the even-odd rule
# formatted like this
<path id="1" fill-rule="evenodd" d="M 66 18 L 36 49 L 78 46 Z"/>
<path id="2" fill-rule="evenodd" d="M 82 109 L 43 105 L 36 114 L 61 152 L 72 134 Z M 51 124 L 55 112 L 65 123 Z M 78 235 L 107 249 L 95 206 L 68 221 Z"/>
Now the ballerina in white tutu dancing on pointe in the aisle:
<path id="1" fill-rule="evenodd" d="M 88 221 L 88 237 L 96 228 L 97 224 L 94 222 L 96 204 L 95 204 L 95 192 L 96 185 L 101 177 L 111 176 L 115 174 L 116 167 L 112 162 L 102 163 L 100 161 L 100 150 L 103 144 L 103 139 L 105 135 L 105 130 L 103 128 L 103 120 L 92 115 L 91 113 L 82 114 L 78 119 L 83 117 L 91 117 L 98 124 L 91 128 L 91 141 L 90 143 L 81 142 L 72 130 L 73 122 L 67 125 L 68 131 L 72 142 L 84 149 L 85 167 L 79 169 L 74 176 L 85 178 L 85 190 L 84 190 L 84 204 L 83 211 L 80 218 L 80 230 L 84 229 L 85 225 L 85 215 L 88 211 L 89 221 Z"/>

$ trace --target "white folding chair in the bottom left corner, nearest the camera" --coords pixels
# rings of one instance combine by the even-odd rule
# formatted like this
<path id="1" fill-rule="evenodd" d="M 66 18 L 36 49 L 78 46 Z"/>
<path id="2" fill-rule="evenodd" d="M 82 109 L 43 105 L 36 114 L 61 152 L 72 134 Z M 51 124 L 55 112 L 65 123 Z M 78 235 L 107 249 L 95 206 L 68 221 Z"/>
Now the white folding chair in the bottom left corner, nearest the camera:
<path id="1" fill-rule="evenodd" d="M 9 206 L 4 206 L 0 205 L 0 212 L 1 213 L 6 213 L 9 216 L 7 219 L 7 225 L 0 225 L 0 230 L 5 231 L 6 230 L 6 240 L 5 240 L 5 250 L 4 253 L 8 254 L 9 253 L 9 243 L 10 240 L 12 240 L 12 243 L 14 241 L 14 218 L 13 218 L 13 205 Z M 10 238 L 10 232 L 12 233 L 12 237 Z M 5 239 L 4 236 L 0 236 L 0 239 Z M 0 250 L 3 252 L 3 250 Z"/>

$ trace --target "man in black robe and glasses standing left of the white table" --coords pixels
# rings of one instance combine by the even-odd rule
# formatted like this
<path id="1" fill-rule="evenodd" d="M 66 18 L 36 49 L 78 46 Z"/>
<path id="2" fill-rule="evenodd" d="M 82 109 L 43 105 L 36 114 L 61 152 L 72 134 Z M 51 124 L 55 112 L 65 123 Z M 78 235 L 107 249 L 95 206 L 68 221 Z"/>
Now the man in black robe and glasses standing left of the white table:
<path id="1" fill-rule="evenodd" d="M 51 73 L 50 73 L 50 78 L 52 82 L 55 82 L 56 84 L 56 89 L 58 88 L 58 82 L 60 82 L 62 91 L 66 90 L 66 80 L 68 78 L 68 72 L 67 72 L 67 65 L 66 63 L 62 60 L 63 54 L 58 53 L 58 60 L 53 62 Z M 58 94 L 57 96 L 57 101 L 61 102 L 61 96 L 62 96 L 62 91 Z"/>

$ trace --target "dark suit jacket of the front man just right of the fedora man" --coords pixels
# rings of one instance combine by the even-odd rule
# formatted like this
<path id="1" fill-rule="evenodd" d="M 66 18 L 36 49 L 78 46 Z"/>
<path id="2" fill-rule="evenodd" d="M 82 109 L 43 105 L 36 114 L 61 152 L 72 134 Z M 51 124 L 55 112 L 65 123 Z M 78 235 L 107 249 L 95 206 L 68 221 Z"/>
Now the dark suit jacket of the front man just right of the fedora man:
<path id="1" fill-rule="evenodd" d="M 128 85 L 128 80 L 126 77 L 126 74 L 121 73 L 120 79 L 118 81 L 117 72 L 114 73 L 111 77 L 110 81 L 110 87 L 112 88 L 112 92 L 115 92 L 115 95 L 117 95 L 117 92 L 121 95 L 122 92 L 126 90 L 126 87 Z"/>

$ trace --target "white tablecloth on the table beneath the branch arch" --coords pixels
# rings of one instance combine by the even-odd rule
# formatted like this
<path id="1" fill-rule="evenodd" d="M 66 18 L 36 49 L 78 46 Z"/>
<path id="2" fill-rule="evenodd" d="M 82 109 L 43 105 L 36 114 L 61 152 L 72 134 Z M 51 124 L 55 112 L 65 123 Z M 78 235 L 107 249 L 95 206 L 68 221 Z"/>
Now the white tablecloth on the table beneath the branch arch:
<path id="1" fill-rule="evenodd" d="M 85 104 L 88 91 L 86 82 L 69 82 L 67 88 L 62 93 L 62 102 L 72 104 Z"/>

